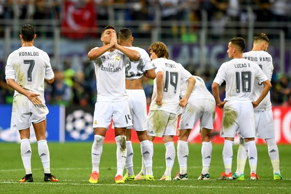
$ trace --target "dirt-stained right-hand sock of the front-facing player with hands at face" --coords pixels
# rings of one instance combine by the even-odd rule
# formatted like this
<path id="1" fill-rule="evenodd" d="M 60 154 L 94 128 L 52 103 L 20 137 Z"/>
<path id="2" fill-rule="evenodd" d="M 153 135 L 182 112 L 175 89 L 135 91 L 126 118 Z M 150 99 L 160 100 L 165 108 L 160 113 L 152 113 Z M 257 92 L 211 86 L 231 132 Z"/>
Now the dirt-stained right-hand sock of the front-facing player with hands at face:
<path id="1" fill-rule="evenodd" d="M 126 136 L 118 135 L 115 137 L 117 149 L 116 149 L 116 159 L 117 159 L 117 172 L 116 175 L 123 175 L 123 170 L 126 161 L 127 147 L 126 147 Z"/>

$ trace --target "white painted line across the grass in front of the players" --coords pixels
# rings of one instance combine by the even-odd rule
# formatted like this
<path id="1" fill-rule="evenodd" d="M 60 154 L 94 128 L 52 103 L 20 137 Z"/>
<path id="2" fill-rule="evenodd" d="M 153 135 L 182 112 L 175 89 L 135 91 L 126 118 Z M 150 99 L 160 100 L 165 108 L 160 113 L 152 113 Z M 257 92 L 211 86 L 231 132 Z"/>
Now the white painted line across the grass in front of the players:
<path id="1" fill-rule="evenodd" d="M 229 189 L 232 188 L 230 186 L 180 186 L 180 185 L 139 185 L 139 184 L 90 184 L 90 183 L 41 183 L 41 182 L 33 182 L 33 183 L 19 183 L 12 181 L 0 181 L 0 184 L 37 184 L 37 185 L 90 185 L 90 186 L 128 186 L 128 187 L 160 187 L 160 188 L 212 188 L 212 189 Z M 245 186 L 235 186 L 233 188 L 241 188 L 241 189 L 274 189 L 274 187 L 245 187 Z M 276 187 L 276 189 L 290 189 L 291 187 Z"/>

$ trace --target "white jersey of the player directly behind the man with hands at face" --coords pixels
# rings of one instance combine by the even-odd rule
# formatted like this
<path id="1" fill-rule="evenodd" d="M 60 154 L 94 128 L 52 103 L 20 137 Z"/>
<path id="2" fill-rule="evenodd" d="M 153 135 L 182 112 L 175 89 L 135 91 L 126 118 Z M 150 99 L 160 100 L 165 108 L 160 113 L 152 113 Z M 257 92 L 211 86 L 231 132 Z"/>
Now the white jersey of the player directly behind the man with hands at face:
<path id="1" fill-rule="evenodd" d="M 145 71 L 154 68 L 150 62 L 150 58 L 145 49 L 141 49 L 139 47 L 126 47 L 126 48 L 136 50 L 141 55 L 139 61 L 130 61 L 126 65 L 125 76 L 127 80 L 137 80 L 143 77 Z"/>

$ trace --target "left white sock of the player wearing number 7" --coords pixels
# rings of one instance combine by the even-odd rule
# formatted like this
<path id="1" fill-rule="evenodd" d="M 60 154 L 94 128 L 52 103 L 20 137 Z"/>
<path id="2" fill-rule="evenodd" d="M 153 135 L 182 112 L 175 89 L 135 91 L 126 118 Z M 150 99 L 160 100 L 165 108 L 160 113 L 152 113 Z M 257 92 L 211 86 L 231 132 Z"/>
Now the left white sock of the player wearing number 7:
<path id="1" fill-rule="evenodd" d="M 30 146 L 29 139 L 22 139 L 20 141 L 20 152 L 21 152 L 21 159 L 25 169 L 25 174 L 29 175 L 32 174 L 32 148 Z"/>

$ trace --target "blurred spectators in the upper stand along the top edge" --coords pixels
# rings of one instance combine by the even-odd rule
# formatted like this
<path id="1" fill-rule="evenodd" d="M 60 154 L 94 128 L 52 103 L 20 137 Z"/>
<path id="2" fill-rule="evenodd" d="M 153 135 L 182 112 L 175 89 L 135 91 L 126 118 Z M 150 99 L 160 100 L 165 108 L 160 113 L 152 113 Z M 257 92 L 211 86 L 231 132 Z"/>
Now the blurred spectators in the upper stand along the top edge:
<path id="1" fill-rule="evenodd" d="M 232 22 L 239 23 L 239 26 L 235 27 L 237 35 L 240 35 L 241 31 L 245 31 L 244 27 L 250 20 L 247 13 L 247 7 L 250 6 L 254 12 L 256 28 L 264 29 L 265 24 L 260 22 L 269 21 L 269 28 L 282 29 L 287 38 L 291 38 L 291 26 L 286 25 L 286 22 L 291 21 L 291 2 L 289 0 L 0 0 L 0 19 L 4 19 L 0 25 L 13 25 L 10 19 L 24 19 L 26 23 L 33 23 L 34 20 L 41 19 L 55 19 L 58 21 L 57 25 L 61 25 L 67 2 L 73 2 L 77 8 L 84 7 L 88 2 L 94 3 L 94 15 L 100 29 L 109 23 L 109 12 L 112 10 L 114 20 L 117 22 L 140 20 L 142 30 L 148 32 L 153 27 L 146 21 L 153 21 L 159 17 L 158 15 L 161 15 L 163 23 L 198 22 L 202 20 L 202 11 L 205 10 L 211 26 L 210 36 L 212 38 L 223 37 L 227 28 L 233 26 Z M 157 8 L 160 10 L 160 14 L 156 13 Z M 272 22 L 275 25 L 272 25 Z M 36 27 L 42 25 L 48 24 L 34 22 Z M 1 26 L 0 37 L 3 36 Z M 193 28 L 199 29 L 201 26 L 197 25 Z M 170 30 L 172 32 L 168 35 L 175 37 L 178 34 L 178 29 L 170 28 Z M 42 35 L 51 36 L 52 33 Z M 134 34 L 134 36 L 137 35 Z"/>

